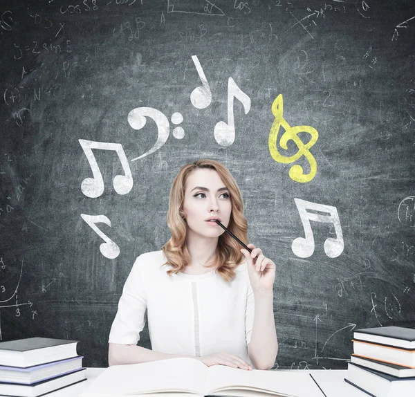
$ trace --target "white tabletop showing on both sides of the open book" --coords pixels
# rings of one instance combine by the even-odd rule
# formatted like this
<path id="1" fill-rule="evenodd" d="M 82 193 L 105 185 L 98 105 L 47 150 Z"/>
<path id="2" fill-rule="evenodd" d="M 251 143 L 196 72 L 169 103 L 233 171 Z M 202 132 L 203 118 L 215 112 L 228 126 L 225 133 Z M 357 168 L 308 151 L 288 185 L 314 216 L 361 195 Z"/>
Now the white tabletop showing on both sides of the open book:
<path id="1" fill-rule="evenodd" d="M 62 390 L 54 391 L 53 393 L 46 394 L 48 397 L 76 397 L 79 396 L 82 391 L 91 385 L 91 382 L 102 372 L 104 368 L 87 368 L 86 369 L 86 379 L 84 382 L 80 382 L 77 385 L 65 387 Z M 290 372 L 303 372 L 305 370 L 297 369 L 281 369 L 279 371 L 290 371 Z M 367 397 L 366 393 L 356 389 L 355 387 L 349 385 L 349 383 L 344 382 L 344 377 L 346 376 L 347 370 L 345 369 L 314 369 L 306 371 L 313 375 L 313 378 L 320 385 L 326 397 Z M 304 396 L 307 397 L 307 391 L 304 390 Z M 322 394 L 322 397 L 323 394 Z"/>

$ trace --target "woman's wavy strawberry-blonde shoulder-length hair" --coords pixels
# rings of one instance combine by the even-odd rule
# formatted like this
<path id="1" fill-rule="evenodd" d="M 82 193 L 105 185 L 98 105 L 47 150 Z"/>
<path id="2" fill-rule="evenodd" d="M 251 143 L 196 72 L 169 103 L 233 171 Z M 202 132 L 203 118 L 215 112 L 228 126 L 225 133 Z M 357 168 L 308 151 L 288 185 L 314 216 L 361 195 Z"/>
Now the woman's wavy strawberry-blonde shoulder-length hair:
<path id="1" fill-rule="evenodd" d="M 187 264 L 190 264 L 190 253 L 186 245 L 187 224 L 184 219 L 183 201 L 187 178 L 195 169 L 214 169 L 219 174 L 229 190 L 232 203 L 228 229 L 241 241 L 248 243 L 248 222 L 243 215 L 242 194 L 228 168 L 216 160 L 196 160 L 194 163 L 186 164 L 174 178 L 170 190 L 167 225 L 172 232 L 172 237 L 161 247 L 167 259 L 163 266 L 172 266 L 172 269 L 167 271 L 169 276 L 180 273 Z M 219 236 L 216 258 L 208 267 L 216 268 L 216 272 L 225 281 L 231 281 L 235 275 L 234 269 L 245 258 L 240 250 L 239 243 L 232 239 L 228 233 L 223 232 Z"/>

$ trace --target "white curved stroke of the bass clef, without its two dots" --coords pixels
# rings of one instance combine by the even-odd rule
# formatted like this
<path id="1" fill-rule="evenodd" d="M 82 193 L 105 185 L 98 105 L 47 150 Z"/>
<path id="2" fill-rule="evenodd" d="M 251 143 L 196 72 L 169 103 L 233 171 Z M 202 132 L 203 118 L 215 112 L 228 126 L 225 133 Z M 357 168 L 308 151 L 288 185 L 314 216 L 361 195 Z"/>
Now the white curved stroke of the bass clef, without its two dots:
<path id="1" fill-rule="evenodd" d="M 141 156 L 138 156 L 136 158 L 133 158 L 131 161 L 139 160 L 140 158 L 143 158 L 145 156 L 148 156 L 151 153 L 154 153 L 154 151 L 157 151 L 162 147 L 165 142 L 167 141 L 167 138 L 169 138 L 170 133 L 170 124 L 167 117 L 158 111 L 157 109 L 154 109 L 152 107 L 137 107 L 136 109 L 131 110 L 128 113 L 128 122 L 133 129 L 142 129 L 142 127 L 145 126 L 147 119 L 146 116 L 151 118 L 157 125 L 157 131 L 158 131 L 158 137 L 157 141 L 154 144 L 149 151 L 146 151 L 145 154 L 142 154 Z"/>

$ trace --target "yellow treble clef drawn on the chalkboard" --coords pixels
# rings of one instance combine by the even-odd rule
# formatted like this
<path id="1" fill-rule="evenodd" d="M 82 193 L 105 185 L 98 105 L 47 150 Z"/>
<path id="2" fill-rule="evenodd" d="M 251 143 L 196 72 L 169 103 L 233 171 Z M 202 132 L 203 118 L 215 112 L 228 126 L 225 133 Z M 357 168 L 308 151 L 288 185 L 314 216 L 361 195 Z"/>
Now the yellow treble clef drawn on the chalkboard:
<path id="1" fill-rule="evenodd" d="M 282 100 L 281 94 L 279 94 L 273 102 L 271 110 L 273 111 L 275 120 L 273 122 L 273 125 L 271 126 L 270 135 L 268 137 L 268 149 L 270 151 L 270 155 L 273 157 L 275 161 L 283 164 L 293 163 L 294 161 L 298 160 L 301 156 L 304 156 L 310 164 L 310 172 L 308 174 L 304 174 L 302 166 L 296 164 L 293 165 L 293 167 L 291 167 L 290 171 L 288 172 L 288 175 L 291 179 L 293 179 L 293 181 L 296 182 L 310 182 L 314 178 L 315 173 L 317 172 L 317 162 L 315 161 L 315 158 L 310 153 L 310 151 L 308 151 L 308 149 L 310 149 L 315 144 L 315 142 L 317 142 L 317 130 L 308 125 L 290 127 L 290 124 L 288 124 L 288 122 L 286 122 L 286 120 L 284 119 L 284 102 Z M 297 153 L 293 156 L 282 156 L 282 154 L 280 154 L 277 149 L 279 127 L 285 129 L 285 132 L 282 134 L 281 139 L 279 140 L 279 145 L 283 149 L 288 149 L 288 140 L 293 140 L 295 145 L 297 145 L 298 147 Z M 304 144 L 304 142 L 298 137 L 297 134 L 300 132 L 307 132 L 311 135 L 311 139 L 308 140 L 306 144 Z"/>

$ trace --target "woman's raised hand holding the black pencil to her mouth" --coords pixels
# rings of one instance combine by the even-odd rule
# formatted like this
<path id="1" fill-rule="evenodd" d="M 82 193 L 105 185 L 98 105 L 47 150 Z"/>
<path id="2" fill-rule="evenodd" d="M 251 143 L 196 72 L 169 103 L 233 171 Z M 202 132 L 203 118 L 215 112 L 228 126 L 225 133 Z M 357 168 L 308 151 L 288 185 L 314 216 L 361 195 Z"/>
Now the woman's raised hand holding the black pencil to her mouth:
<path id="1" fill-rule="evenodd" d="M 262 255 L 261 248 L 255 248 L 253 244 L 248 244 L 252 250 L 249 253 L 245 248 L 241 252 L 248 262 L 248 275 L 252 290 L 272 290 L 275 280 L 275 263 L 271 259 Z"/>

